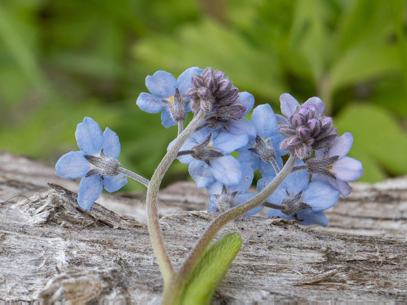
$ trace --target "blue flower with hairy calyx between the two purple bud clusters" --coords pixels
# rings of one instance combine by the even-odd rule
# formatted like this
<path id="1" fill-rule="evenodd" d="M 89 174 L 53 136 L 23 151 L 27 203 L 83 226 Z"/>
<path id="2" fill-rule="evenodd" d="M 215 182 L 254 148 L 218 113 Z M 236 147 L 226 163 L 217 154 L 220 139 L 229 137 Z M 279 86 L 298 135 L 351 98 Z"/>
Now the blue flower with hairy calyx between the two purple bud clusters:
<path id="1" fill-rule="evenodd" d="M 284 137 L 277 130 L 277 119 L 271 106 L 264 104 L 254 108 L 251 123 L 256 129 L 256 138 L 238 149 L 238 160 L 250 162 L 253 168 L 258 168 L 261 173 L 274 171 L 274 161 L 281 169 L 281 156 L 286 155 L 287 151 L 280 149 Z"/>

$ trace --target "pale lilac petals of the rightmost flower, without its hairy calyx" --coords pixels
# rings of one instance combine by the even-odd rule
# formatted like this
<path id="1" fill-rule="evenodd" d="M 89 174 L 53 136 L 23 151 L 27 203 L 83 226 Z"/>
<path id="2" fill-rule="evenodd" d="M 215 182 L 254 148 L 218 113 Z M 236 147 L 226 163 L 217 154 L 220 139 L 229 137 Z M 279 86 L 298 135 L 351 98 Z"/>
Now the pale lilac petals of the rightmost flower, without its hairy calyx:
<path id="1" fill-rule="evenodd" d="M 351 150 L 352 143 L 352 134 L 345 132 L 335 139 L 335 142 L 328 150 L 319 149 L 315 151 L 316 157 L 329 158 L 338 156 L 339 158 L 328 169 L 334 174 L 335 179 L 321 174 L 313 174 L 312 180 L 328 181 L 343 197 L 352 192 L 352 187 L 347 182 L 355 181 L 363 175 L 362 163 L 354 158 L 346 157 L 349 150 Z"/>

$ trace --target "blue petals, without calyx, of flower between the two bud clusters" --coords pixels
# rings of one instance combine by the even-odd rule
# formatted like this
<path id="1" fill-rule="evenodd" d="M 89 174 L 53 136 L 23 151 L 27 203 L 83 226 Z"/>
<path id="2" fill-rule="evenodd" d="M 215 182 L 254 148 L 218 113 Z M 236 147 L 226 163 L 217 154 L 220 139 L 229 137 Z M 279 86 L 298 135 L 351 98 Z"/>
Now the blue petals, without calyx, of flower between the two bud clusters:
<path id="1" fill-rule="evenodd" d="M 280 149 L 280 143 L 284 137 L 277 130 L 277 119 L 274 114 L 273 109 L 269 104 L 259 105 L 253 110 L 251 116 L 251 123 L 254 125 L 256 130 L 256 135 L 261 138 L 265 143 L 269 143 L 274 150 L 275 160 L 280 167 L 282 168 L 282 159 L 281 156 L 287 154 L 286 150 Z M 257 138 L 258 139 L 258 138 Z M 248 149 L 256 147 L 256 142 L 252 137 L 248 144 L 238 151 L 240 155 L 238 156 L 239 161 L 250 162 L 254 169 L 258 168 L 261 173 L 267 171 L 274 171 L 270 163 L 264 162 L 259 159 L 259 156 Z"/>

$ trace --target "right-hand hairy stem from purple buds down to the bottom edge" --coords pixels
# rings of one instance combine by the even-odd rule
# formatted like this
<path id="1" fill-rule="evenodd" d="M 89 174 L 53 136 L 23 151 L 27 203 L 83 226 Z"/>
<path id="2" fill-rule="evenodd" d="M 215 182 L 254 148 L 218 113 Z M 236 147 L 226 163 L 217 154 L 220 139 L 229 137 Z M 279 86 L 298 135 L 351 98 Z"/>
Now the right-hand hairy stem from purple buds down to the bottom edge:
<path id="1" fill-rule="evenodd" d="M 252 199 L 246 201 L 245 203 L 235 206 L 227 211 L 223 212 L 216 219 L 214 219 L 208 228 L 203 232 L 202 236 L 199 238 L 195 247 L 191 250 L 188 257 L 182 264 L 180 270 L 171 279 L 171 282 L 164 289 L 162 303 L 163 304 L 176 304 L 180 302 L 182 296 L 182 288 L 185 279 L 191 275 L 196 263 L 199 261 L 202 254 L 208 248 L 210 242 L 219 232 L 219 230 L 227 224 L 229 221 L 245 214 L 249 210 L 255 208 L 258 205 L 266 202 L 267 198 L 278 188 L 278 186 L 284 181 L 284 179 L 292 172 L 294 165 L 297 162 L 297 158 L 290 156 L 277 174 L 277 176 L 270 182 L 270 184 Z"/>

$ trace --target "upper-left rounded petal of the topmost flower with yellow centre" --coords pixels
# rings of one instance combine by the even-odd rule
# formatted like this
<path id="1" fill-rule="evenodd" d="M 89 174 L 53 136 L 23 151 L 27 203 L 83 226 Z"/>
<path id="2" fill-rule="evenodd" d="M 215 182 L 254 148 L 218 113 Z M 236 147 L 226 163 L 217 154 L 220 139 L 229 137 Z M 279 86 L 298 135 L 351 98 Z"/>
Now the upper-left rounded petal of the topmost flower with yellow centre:
<path id="1" fill-rule="evenodd" d="M 177 80 L 166 71 L 157 71 L 146 77 L 146 87 L 157 97 L 169 98 L 175 94 Z"/>

